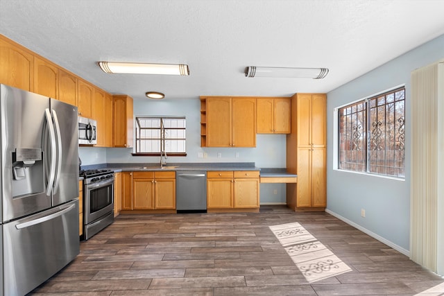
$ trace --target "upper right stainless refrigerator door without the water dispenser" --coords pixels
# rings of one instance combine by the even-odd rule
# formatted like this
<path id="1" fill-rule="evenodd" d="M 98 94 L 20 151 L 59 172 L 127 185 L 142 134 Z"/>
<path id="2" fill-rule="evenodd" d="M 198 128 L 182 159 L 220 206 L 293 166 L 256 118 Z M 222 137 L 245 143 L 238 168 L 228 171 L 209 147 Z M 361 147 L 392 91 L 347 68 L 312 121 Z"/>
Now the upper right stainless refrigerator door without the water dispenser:
<path id="1" fill-rule="evenodd" d="M 53 206 L 78 197 L 77 107 L 51 98 L 51 114 L 56 130 L 57 166 Z"/>

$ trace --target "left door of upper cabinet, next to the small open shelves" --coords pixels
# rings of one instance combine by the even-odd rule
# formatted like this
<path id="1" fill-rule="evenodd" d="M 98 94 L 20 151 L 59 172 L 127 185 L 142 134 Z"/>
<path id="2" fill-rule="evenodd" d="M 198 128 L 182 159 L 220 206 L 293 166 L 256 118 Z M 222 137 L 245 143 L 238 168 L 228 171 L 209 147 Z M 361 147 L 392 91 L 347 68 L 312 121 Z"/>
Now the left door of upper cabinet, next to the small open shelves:
<path id="1" fill-rule="evenodd" d="M 207 147 L 231 147 L 231 98 L 207 98 Z"/>

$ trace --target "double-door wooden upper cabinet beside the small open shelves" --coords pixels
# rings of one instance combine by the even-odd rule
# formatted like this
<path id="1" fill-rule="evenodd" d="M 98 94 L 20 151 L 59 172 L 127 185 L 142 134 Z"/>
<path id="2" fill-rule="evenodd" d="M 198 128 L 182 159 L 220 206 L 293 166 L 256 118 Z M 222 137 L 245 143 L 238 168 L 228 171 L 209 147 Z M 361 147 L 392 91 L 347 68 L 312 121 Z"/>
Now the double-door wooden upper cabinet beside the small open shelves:
<path id="1" fill-rule="evenodd" d="M 255 98 L 207 98 L 206 121 L 207 147 L 256 146 Z"/>

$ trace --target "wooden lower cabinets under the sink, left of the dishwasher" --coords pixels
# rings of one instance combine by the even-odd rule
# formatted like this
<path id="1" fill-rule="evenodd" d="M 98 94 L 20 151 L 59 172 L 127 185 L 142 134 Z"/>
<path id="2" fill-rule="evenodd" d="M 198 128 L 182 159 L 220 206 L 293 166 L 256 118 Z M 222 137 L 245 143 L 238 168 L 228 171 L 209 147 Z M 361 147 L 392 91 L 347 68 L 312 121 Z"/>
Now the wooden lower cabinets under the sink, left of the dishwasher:
<path id="1" fill-rule="evenodd" d="M 122 174 L 122 210 L 176 211 L 176 172 Z"/>

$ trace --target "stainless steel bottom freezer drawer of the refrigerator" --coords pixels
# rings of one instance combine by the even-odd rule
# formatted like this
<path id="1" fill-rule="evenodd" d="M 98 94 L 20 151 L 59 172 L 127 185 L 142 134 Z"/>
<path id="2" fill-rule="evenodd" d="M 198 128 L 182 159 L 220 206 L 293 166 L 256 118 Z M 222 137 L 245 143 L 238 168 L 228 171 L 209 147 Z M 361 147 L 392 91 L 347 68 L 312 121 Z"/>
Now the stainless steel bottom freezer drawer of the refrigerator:
<path id="1" fill-rule="evenodd" d="M 80 252 L 78 200 L 1 228 L 4 295 L 26 295 Z"/>

